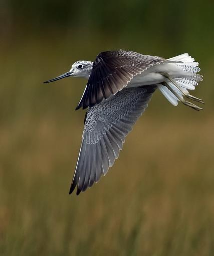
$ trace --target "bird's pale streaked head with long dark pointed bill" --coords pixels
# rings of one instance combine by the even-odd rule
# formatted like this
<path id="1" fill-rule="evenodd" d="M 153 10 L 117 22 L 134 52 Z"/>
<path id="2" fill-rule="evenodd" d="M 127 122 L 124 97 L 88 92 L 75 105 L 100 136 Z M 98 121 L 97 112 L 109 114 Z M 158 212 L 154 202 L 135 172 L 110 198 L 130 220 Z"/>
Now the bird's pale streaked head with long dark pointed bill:
<path id="1" fill-rule="evenodd" d="M 69 76 L 84 77 L 88 79 L 91 74 L 92 65 L 92 61 L 78 60 L 72 65 L 71 69 L 67 73 L 62 74 L 51 80 L 45 81 L 44 83 L 54 82 Z"/>

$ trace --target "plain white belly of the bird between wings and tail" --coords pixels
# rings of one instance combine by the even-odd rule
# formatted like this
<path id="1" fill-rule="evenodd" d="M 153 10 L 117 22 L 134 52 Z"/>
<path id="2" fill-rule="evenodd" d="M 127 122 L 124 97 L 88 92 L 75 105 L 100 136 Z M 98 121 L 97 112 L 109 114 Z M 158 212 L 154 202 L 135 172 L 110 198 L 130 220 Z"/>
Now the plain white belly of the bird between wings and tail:
<path id="1" fill-rule="evenodd" d="M 166 78 L 161 75 L 160 72 L 166 72 L 172 78 L 185 77 L 187 73 L 175 64 L 158 64 L 154 67 L 144 70 L 141 74 L 134 76 L 130 83 L 128 83 L 127 87 L 157 84 L 166 81 Z"/>

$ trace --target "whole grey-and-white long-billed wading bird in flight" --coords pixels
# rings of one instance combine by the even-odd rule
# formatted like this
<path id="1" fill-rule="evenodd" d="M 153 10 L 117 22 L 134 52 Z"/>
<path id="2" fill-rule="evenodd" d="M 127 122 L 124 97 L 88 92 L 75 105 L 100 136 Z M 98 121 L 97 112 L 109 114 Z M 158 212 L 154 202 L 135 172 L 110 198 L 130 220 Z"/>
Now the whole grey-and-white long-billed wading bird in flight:
<path id="1" fill-rule="evenodd" d="M 69 72 L 44 83 L 76 76 L 88 79 L 76 109 L 87 108 L 82 143 L 69 194 L 78 195 L 106 175 L 122 150 L 125 137 L 159 89 L 174 106 L 178 102 L 197 111 L 204 104 L 189 94 L 202 76 L 198 62 L 187 53 L 165 59 L 132 51 L 106 51 L 94 62 L 77 61 Z"/>

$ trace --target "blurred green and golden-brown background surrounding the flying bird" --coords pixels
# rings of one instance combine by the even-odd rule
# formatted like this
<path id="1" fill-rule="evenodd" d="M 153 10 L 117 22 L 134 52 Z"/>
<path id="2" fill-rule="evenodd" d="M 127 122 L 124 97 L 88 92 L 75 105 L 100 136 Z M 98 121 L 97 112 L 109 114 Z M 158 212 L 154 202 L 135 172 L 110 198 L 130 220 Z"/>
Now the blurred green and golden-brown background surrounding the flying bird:
<path id="1" fill-rule="evenodd" d="M 211 1 L 0 0 L 0 254 L 213 255 Z M 106 50 L 188 52 L 204 111 L 159 91 L 106 177 L 68 195 L 86 81 L 63 79 Z"/>

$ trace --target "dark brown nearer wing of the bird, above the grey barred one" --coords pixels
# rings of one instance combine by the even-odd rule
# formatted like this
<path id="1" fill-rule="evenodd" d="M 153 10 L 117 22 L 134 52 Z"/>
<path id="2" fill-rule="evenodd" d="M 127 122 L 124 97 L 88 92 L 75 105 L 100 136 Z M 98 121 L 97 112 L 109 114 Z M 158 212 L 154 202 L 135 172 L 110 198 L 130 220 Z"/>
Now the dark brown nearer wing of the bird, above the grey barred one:
<path id="1" fill-rule="evenodd" d="M 164 61 L 161 57 L 131 51 L 100 53 L 93 63 L 87 86 L 76 109 L 100 103 L 125 87 L 133 76 Z"/>

